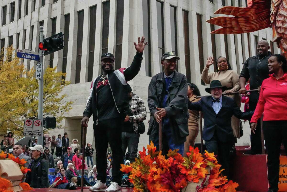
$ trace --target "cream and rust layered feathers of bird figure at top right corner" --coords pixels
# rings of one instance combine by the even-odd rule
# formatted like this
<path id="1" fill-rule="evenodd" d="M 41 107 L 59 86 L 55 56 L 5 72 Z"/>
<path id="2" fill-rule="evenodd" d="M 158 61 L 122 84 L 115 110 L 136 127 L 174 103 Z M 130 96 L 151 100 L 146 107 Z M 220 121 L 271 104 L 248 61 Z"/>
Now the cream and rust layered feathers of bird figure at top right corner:
<path id="1" fill-rule="evenodd" d="M 287 1 L 271 0 L 270 21 L 273 29 L 273 40 L 287 39 Z"/>

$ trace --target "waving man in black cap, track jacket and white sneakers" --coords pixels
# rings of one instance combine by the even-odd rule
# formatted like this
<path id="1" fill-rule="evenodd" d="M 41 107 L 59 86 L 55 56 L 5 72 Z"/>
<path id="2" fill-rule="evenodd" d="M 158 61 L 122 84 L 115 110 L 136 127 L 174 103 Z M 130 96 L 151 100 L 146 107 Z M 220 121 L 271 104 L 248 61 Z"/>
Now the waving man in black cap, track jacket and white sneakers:
<path id="1" fill-rule="evenodd" d="M 94 136 L 97 163 L 97 183 L 90 191 L 106 188 L 106 152 L 108 143 L 113 153 L 113 180 L 106 191 L 119 191 L 122 182 L 121 163 L 122 140 L 121 124 L 125 119 L 124 111 L 128 107 L 129 97 L 127 81 L 132 80 L 139 72 L 145 38 L 134 42 L 137 51 L 133 62 L 128 68 L 114 70 L 115 58 L 111 53 L 104 53 L 101 57 L 103 74 L 93 80 L 90 96 L 84 110 L 82 126 L 87 127 L 91 115 L 94 120 Z"/>

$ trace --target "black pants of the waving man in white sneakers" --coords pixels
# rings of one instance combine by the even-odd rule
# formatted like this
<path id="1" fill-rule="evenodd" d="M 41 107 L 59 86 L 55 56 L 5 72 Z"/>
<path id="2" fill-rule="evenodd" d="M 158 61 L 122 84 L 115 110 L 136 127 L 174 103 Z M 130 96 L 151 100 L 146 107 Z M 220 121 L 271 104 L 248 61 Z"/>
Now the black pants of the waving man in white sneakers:
<path id="1" fill-rule="evenodd" d="M 96 164 L 98 175 L 97 179 L 106 183 L 106 167 L 107 167 L 107 148 L 108 143 L 113 153 L 113 182 L 121 186 L 122 172 L 121 163 L 123 163 L 122 152 L 122 128 L 121 122 L 123 119 L 112 119 L 105 122 L 99 122 L 98 125 L 94 123 L 94 135 L 96 145 Z"/>

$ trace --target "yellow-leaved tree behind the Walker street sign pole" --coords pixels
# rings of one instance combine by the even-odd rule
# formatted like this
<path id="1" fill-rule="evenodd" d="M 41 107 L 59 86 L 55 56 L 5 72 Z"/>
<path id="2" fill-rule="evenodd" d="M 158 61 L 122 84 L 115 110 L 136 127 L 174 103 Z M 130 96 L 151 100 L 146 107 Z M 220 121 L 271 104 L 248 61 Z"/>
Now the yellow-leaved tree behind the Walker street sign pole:
<path id="1" fill-rule="evenodd" d="M 38 117 L 38 80 L 35 70 L 26 72 L 20 59 L 12 57 L 13 47 L 3 50 L 0 59 L 0 134 L 7 130 L 14 135 L 21 136 L 24 129 L 24 119 Z M 65 101 L 66 94 L 61 94 L 63 88 L 70 84 L 64 81 L 65 73 L 56 72 L 56 67 L 47 68 L 43 74 L 43 116 L 55 116 L 56 127 L 65 118 L 64 113 L 71 109 L 73 102 Z"/>

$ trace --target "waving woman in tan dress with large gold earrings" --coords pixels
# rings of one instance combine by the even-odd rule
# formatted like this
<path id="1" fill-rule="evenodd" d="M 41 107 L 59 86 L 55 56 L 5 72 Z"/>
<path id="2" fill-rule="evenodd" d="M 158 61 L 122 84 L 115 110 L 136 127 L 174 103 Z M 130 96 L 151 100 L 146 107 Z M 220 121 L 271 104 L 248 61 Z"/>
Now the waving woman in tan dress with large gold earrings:
<path id="1" fill-rule="evenodd" d="M 234 72 L 228 60 L 225 57 L 219 57 L 216 61 L 217 72 L 208 73 L 209 67 L 213 64 L 213 57 L 208 57 L 206 65 L 201 73 L 201 79 L 206 83 L 210 84 L 213 80 L 219 80 L 222 86 L 226 86 L 227 89 L 224 93 L 229 94 L 232 92 L 239 91 L 239 75 Z M 228 95 L 235 100 L 237 106 L 241 106 L 241 94 Z M 240 138 L 240 124 L 239 119 L 234 115 L 231 118 L 231 127 L 233 130 L 234 137 Z"/>

